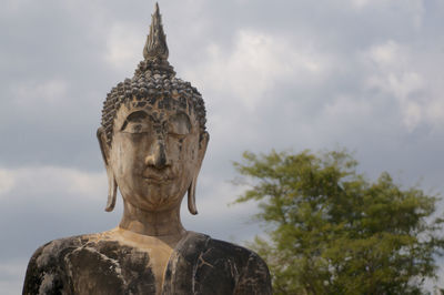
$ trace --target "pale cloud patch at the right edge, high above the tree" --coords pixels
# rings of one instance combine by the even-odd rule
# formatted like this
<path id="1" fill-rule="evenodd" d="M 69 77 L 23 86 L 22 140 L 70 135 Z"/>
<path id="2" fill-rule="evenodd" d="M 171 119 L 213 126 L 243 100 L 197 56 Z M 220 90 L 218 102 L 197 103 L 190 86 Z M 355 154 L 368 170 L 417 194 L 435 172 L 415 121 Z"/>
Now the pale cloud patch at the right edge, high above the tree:
<path id="1" fill-rule="evenodd" d="M 444 114 L 436 108 L 443 105 L 441 94 L 430 91 L 430 73 L 415 64 L 418 58 L 411 48 L 393 40 L 373 45 L 364 53 L 369 65 L 366 87 L 395 99 L 408 131 L 421 123 L 438 125 Z"/>

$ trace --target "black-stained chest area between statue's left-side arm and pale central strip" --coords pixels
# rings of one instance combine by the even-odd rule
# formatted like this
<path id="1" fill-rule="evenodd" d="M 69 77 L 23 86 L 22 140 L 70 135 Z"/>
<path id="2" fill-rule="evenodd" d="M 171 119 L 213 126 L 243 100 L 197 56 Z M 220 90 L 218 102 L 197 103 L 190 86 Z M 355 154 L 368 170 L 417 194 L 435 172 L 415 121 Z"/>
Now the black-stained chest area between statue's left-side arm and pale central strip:
<path id="1" fill-rule="evenodd" d="M 83 246 L 64 256 L 64 267 L 74 294 L 161 294 L 159 269 L 167 263 L 153 261 L 130 247 Z"/>

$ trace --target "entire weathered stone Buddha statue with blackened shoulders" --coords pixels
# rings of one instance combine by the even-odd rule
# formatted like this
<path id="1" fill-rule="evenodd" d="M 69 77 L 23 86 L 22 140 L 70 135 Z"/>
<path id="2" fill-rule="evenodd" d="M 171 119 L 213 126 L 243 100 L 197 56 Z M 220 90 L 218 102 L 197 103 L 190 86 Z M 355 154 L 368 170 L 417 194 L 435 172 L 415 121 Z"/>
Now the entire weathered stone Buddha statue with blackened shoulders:
<path id="1" fill-rule="evenodd" d="M 175 78 L 159 7 L 132 79 L 108 94 L 98 139 L 114 230 L 52 241 L 36 251 L 23 294 L 271 294 L 265 263 L 253 252 L 185 231 L 180 204 L 196 214 L 195 185 L 205 154 L 205 108 Z"/>

